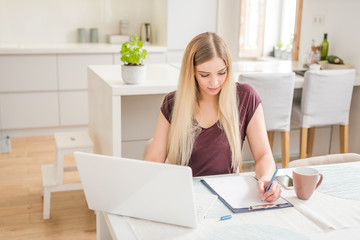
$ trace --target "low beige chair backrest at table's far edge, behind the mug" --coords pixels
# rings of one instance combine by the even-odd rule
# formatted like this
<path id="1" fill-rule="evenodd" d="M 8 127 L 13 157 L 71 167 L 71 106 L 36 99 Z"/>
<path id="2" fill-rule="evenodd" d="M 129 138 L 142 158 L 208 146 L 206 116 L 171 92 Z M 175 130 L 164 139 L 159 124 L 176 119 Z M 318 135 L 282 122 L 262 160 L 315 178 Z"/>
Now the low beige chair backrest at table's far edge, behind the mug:
<path id="1" fill-rule="evenodd" d="M 293 168 L 293 167 L 356 162 L 356 161 L 360 161 L 360 155 L 356 153 L 329 154 L 325 156 L 317 156 L 317 157 L 294 160 L 289 162 L 288 165 L 286 165 L 286 167 Z"/>

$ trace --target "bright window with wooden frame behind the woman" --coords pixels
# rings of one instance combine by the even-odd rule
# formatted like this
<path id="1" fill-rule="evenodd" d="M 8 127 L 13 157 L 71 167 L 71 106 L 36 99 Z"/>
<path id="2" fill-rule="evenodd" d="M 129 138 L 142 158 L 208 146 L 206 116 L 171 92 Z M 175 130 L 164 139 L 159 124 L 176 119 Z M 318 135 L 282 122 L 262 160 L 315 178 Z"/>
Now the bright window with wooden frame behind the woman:
<path id="1" fill-rule="evenodd" d="M 240 0 L 240 58 L 269 56 L 282 46 L 297 59 L 302 0 Z M 280 44 L 279 44 L 280 43 Z M 283 55 L 284 56 L 284 55 Z"/>

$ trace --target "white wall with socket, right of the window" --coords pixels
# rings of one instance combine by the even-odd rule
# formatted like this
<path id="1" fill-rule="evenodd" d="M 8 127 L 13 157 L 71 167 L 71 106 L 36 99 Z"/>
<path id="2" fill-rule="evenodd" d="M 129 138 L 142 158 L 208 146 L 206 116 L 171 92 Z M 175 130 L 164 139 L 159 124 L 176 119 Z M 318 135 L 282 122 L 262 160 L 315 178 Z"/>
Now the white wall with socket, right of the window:
<path id="1" fill-rule="evenodd" d="M 360 1 L 304 0 L 299 60 L 310 50 L 311 40 L 320 44 L 328 33 L 329 54 L 335 54 L 360 71 Z M 314 16 L 324 16 L 324 24 L 313 24 Z"/>

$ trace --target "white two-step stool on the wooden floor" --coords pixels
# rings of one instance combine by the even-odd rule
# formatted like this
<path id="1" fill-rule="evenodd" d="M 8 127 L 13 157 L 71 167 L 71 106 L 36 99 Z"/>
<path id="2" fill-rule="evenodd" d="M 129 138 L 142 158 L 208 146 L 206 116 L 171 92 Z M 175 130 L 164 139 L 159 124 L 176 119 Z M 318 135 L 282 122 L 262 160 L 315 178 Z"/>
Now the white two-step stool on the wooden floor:
<path id="1" fill-rule="evenodd" d="M 64 167 L 64 157 L 75 151 L 92 152 L 93 143 L 87 132 L 55 133 L 55 159 L 53 164 L 41 166 L 43 218 L 50 218 L 50 198 L 52 192 L 82 189 L 81 183 L 64 184 L 64 172 L 76 171 L 76 166 Z"/>

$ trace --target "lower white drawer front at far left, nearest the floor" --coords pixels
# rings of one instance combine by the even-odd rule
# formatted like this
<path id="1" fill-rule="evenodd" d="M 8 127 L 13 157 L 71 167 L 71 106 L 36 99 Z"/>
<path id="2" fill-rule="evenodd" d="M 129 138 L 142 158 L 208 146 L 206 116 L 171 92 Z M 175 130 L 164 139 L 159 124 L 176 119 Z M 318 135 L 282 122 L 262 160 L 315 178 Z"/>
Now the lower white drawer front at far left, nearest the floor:
<path id="1" fill-rule="evenodd" d="M 2 129 L 59 126 L 57 92 L 0 94 Z"/>

